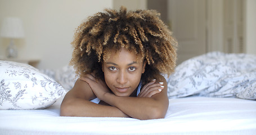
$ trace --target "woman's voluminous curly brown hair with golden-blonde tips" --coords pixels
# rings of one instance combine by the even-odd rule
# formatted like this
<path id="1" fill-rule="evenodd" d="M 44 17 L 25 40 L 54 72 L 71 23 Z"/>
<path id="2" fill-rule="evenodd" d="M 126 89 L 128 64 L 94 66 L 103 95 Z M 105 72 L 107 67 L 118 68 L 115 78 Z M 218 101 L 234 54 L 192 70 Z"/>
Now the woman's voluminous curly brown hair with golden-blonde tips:
<path id="1" fill-rule="evenodd" d="M 143 83 L 159 74 L 170 75 L 176 66 L 177 41 L 155 10 L 120 11 L 106 9 L 89 16 L 75 32 L 70 65 L 77 75 L 95 73 L 104 80 L 102 61 L 122 48 L 146 61 Z"/>

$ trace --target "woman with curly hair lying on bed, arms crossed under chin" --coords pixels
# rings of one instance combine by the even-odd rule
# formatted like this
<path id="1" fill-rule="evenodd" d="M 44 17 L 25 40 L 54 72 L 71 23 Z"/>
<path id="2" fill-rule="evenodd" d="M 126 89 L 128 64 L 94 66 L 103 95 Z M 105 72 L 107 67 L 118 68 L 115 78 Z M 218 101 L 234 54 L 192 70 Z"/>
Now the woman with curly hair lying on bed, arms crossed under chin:
<path id="1" fill-rule="evenodd" d="M 177 42 L 153 10 L 106 10 L 77 29 L 70 64 L 80 78 L 61 116 L 164 118 Z"/>

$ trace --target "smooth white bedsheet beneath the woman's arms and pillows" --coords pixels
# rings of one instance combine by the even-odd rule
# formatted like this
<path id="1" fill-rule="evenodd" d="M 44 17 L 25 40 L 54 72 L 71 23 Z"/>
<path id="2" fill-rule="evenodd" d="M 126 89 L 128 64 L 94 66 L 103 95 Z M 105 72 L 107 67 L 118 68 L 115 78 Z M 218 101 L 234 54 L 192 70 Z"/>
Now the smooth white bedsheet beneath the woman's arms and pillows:
<path id="1" fill-rule="evenodd" d="M 0 134 L 255 134 L 256 101 L 186 97 L 169 100 L 165 119 L 61 117 L 44 110 L 0 110 Z"/>

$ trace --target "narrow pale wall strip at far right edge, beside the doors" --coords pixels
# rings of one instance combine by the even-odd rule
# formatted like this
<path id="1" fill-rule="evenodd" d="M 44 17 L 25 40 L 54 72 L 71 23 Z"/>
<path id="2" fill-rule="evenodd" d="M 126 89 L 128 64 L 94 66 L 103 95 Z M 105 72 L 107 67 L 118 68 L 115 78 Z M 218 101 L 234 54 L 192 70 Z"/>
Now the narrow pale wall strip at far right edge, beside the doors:
<path id="1" fill-rule="evenodd" d="M 256 54 L 256 1 L 245 0 L 244 44 L 246 53 Z"/>

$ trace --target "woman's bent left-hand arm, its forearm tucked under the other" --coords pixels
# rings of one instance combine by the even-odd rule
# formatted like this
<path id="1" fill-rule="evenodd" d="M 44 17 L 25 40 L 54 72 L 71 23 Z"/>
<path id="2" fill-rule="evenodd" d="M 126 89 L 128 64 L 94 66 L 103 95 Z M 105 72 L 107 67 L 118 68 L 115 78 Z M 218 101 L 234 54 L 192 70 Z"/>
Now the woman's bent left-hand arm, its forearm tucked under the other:
<path id="1" fill-rule="evenodd" d="M 89 100 L 96 98 L 88 83 L 78 79 L 61 103 L 61 116 L 129 117 L 114 106 L 98 105 Z"/>

